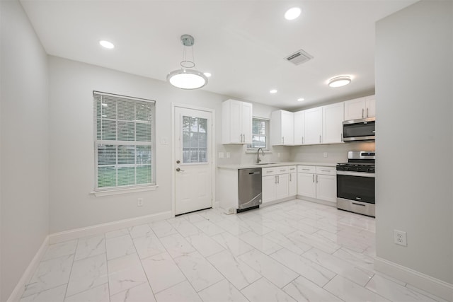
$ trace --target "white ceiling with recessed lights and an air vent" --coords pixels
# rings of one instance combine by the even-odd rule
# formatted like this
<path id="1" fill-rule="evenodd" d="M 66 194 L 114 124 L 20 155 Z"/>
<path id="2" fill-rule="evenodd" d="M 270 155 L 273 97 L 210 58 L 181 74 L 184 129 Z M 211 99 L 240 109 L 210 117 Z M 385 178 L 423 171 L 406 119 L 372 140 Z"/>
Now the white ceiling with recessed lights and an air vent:
<path id="1" fill-rule="evenodd" d="M 374 23 L 414 2 L 21 0 L 48 54 L 166 81 L 183 59 L 180 35 L 190 34 L 197 69 L 212 73 L 202 89 L 287 110 L 373 93 Z M 287 21 L 292 6 L 302 14 Z M 314 59 L 284 59 L 300 49 Z M 326 85 L 343 74 L 350 85 Z"/>

